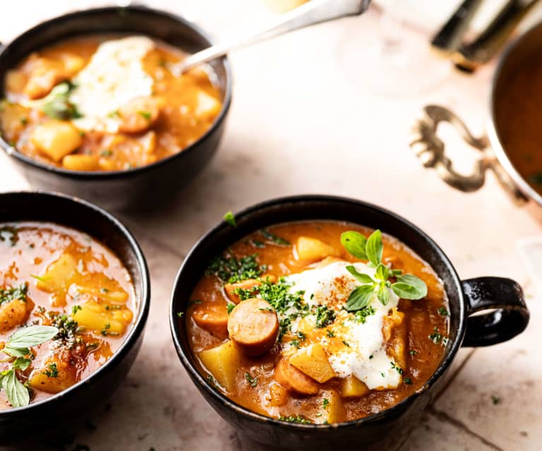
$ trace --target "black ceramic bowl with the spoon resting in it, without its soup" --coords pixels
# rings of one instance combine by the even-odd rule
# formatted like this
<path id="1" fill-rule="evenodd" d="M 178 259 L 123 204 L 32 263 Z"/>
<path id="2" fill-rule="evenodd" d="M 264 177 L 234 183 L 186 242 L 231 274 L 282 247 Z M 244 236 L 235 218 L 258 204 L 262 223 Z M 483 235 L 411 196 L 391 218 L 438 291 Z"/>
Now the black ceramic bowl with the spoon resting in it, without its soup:
<path id="1" fill-rule="evenodd" d="M 138 33 L 192 53 L 211 45 L 193 23 L 144 6 L 77 11 L 40 23 L 16 37 L 0 51 L 0 97 L 6 71 L 31 52 L 76 36 L 96 33 Z M 17 152 L 0 137 L 0 146 L 35 188 L 69 193 L 105 208 L 148 208 L 172 198 L 198 174 L 215 154 L 231 102 L 232 76 L 228 60 L 211 62 L 222 95 L 223 109 L 204 136 L 175 155 L 126 171 L 80 172 L 54 167 Z"/>

